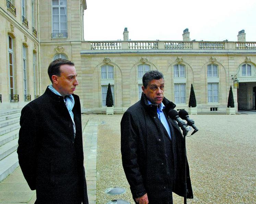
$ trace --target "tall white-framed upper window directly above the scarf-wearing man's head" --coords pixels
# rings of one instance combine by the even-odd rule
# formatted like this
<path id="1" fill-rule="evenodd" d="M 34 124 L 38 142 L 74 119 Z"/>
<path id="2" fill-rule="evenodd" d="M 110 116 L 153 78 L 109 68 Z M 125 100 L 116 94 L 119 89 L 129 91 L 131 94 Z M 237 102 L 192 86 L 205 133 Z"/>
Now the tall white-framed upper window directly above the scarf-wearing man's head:
<path id="1" fill-rule="evenodd" d="M 68 37 L 67 34 L 67 1 L 52 0 L 52 37 Z"/>

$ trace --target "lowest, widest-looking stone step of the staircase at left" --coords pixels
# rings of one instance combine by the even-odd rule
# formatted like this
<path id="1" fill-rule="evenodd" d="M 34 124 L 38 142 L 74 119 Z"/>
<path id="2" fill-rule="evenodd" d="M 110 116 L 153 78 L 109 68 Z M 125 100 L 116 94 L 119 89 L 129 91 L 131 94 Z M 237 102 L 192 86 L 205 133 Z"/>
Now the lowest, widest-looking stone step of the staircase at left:
<path id="1" fill-rule="evenodd" d="M 19 166 L 18 154 L 13 152 L 0 161 L 0 182 Z"/>

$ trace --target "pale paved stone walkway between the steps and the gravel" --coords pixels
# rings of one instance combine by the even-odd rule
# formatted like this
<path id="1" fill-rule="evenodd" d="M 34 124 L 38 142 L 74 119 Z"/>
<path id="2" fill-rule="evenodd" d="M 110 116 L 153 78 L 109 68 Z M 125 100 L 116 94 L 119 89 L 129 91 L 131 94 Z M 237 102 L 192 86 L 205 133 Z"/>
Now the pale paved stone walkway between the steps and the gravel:
<path id="1" fill-rule="evenodd" d="M 82 115 L 84 166 L 86 171 L 87 192 L 90 204 L 96 204 L 96 157 L 98 119 L 88 120 Z M 0 203 L 18 204 L 35 203 L 36 192 L 31 191 L 22 174 L 21 168 L 16 168 L 0 183 Z"/>

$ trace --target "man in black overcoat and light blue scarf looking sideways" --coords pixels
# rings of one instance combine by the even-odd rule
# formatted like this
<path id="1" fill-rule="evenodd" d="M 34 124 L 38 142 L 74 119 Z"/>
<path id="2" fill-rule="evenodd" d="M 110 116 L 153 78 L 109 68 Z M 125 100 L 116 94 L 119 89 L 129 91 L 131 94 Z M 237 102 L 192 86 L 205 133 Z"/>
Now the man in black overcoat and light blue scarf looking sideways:
<path id="1" fill-rule="evenodd" d="M 54 60 L 52 85 L 21 111 L 17 153 L 22 173 L 36 190 L 36 203 L 88 204 L 81 106 L 74 63 Z"/>

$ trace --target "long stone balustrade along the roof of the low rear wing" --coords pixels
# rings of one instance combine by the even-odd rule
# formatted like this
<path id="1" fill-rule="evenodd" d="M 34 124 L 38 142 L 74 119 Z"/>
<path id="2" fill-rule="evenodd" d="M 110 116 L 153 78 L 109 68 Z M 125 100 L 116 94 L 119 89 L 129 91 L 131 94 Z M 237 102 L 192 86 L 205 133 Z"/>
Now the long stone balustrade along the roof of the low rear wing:
<path id="1" fill-rule="evenodd" d="M 83 50 L 256 50 L 256 42 L 234 41 L 84 41 Z M 200 51 L 200 52 L 202 52 Z M 119 52 L 119 51 L 118 51 Z M 151 52 L 151 51 L 150 51 Z M 154 52 L 154 51 L 153 51 Z"/>

